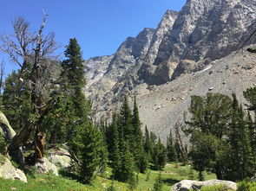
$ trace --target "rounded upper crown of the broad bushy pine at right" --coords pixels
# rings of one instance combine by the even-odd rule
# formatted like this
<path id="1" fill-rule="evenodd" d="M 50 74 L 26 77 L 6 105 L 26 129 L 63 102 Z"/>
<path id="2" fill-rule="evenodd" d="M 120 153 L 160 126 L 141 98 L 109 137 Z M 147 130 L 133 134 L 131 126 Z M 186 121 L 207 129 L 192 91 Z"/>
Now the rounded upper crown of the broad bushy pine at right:
<path id="1" fill-rule="evenodd" d="M 220 93 L 207 93 L 206 96 L 191 96 L 188 111 L 192 118 L 187 124 L 187 133 L 198 129 L 211 133 L 214 137 L 222 138 L 226 134 L 230 116 L 232 114 L 232 100 Z"/>

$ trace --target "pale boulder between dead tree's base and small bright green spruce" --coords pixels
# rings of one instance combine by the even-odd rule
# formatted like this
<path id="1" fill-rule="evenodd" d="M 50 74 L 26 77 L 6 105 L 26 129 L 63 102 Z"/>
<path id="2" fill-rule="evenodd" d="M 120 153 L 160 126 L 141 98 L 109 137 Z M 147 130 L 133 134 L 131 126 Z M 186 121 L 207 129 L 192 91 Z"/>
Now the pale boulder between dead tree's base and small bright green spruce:
<path id="1" fill-rule="evenodd" d="M 49 161 L 61 168 L 69 168 L 71 158 L 68 150 L 49 150 Z"/>

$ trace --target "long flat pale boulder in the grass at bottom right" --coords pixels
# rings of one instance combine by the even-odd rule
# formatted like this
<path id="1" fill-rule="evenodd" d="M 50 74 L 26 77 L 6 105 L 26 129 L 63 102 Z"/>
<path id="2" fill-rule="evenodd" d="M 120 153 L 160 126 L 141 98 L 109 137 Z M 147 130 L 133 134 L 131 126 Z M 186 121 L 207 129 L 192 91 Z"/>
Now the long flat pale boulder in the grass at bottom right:
<path id="1" fill-rule="evenodd" d="M 237 189 L 237 185 L 233 181 L 221 181 L 221 180 L 210 180 L 210 181 L 189 181 L 183 180 L 174 184 L 171 191 L 189 191 L 190 189 L 200 190 L 202 187 L 210 187 L 214 185 L 223 185 L 226 189 Z"/>

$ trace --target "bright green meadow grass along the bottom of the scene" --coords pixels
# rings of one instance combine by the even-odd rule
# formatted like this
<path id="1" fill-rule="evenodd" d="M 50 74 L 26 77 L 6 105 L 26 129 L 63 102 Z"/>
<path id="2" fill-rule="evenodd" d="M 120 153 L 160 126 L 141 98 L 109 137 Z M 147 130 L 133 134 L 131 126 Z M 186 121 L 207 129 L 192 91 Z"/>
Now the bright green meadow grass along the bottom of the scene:
<path id="1" fill-rule="evenodd" d="M 196 176 L 195 171 L 193 171 Z M 178 165 L 174 163 L 168 163 L 166 168 L 161 172 L 161 178 L 163 182 L 162 191 L 169 191 L 170 187 L 174 183 L 188 179 L 192 176 L 191 168 L 186 166 Z M 150 170 L 146 174 L 139 174 L 139 185 L 135 189 L 136 191 L 147 191 L 153 190 L 154 181 L 157 178 L 159 172 Z M 35 175 L 28 176 L 28 183 L 22 181 L 12 181 L 6 179 L 0 179 L 0 190 L 1 191 L 104 191 L 111 186 L 111 169 L 108 169 L 106 177 L 97 176 L 95 181 L 91 185 L 83 185 L 75 180 L 72 180 L 70 175 L 61 174 L 60 176 L 55 175 Z M 69 176 L 69 177 L 68 177 Z M 206 175 L 206 179 L 214 179 L 215 175 Z M 127 191 L 128 185 L 119 181 L 114 181 L 114 187 L 116 191 Z"/>

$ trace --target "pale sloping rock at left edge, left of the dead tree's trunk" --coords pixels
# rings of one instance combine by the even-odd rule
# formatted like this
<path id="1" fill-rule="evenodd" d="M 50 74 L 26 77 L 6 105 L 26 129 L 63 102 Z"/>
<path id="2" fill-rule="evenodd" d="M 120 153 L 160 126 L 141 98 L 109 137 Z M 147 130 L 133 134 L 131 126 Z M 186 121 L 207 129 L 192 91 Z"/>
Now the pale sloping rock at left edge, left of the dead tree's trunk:
<path id="1" fill-rule="evenodd" d="M 10 141 L 16 135 L 2 111 L 0 111 L 0 133 L 3 134 L 6 141 Z"/>

